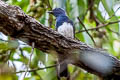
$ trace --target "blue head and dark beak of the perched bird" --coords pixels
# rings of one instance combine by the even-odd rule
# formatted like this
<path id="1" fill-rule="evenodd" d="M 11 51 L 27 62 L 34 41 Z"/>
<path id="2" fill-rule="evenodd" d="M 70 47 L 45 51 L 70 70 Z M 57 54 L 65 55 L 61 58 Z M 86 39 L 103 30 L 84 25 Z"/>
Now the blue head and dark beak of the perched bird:
<path id="1" fill-rule="evenodd" d="M 55 8 L 52 11 L 48 11 L 48 13 L 54 15 L 55 17 L 58 17 L 60 15 L 66 15 L 65 10 L 62 8 Z"/>

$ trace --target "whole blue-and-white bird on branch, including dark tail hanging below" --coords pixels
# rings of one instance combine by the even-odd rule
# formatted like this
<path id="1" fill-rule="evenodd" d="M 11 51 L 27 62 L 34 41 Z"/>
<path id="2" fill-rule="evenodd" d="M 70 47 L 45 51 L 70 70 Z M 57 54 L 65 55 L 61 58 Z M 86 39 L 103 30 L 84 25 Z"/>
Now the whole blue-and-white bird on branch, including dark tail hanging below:
<path id="1" fill-rule="evenodd" d="M 73 21 L 69 19 L 64 9 L 55 8 L 52 11 L 48 11 L 48 13 L 56 17 L 55 29 L 58 33 L 67 38 L 75 38 L 75 27 Z M 58 66 L 58 80 L 60 80 L 61 77 L 67 77 L 67 80 L 69 80 L 67 65 L 68 64 L 64 62 L 62 64 L 60 63 Z"/>

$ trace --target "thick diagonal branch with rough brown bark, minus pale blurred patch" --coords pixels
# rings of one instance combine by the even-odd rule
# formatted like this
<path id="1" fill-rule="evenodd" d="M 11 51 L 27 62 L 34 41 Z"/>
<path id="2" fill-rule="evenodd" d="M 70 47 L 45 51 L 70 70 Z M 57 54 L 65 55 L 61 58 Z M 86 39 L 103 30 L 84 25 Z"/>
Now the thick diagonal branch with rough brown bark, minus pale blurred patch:
<path id="1" fill-rule="evenodd" d="M 92 48 L 78 40 L 66 38 L 44 26 L 34 18 L 26 15 L 19 7 L 12 6 L 0 0 L 0 31 L 13 38 L 25 41 L 29 45 L 35 43 L 35 47 L 43 52 L 55 53 L 61 60 L 77 65 L 86 71 L 98 76 L 108 76 L 89 67 L 84 61 L 79 59 L 85 51 L 93 51 L 109 57 L 114 62 L 114 67 L 109 75 L 116 75 L 120 72 L 120 61 L 106 52 Z M 117 74 L 118 76 L 120 74 Z"/>

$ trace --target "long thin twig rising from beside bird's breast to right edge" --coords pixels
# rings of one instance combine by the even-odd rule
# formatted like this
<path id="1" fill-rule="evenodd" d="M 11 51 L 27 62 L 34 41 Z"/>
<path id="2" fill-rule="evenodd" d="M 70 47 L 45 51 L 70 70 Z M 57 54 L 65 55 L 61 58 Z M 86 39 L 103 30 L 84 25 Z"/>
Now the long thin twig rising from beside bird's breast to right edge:
<path id="1" fill-rule="evenodd" d="M 120 20 L 114 21 L 114 22 L 108 22 L 108 23 L 106 23 L 106 24 L 100 24 L 100 25 L 96 26 L 95 28 L 91 28 L 91 29 L 87 29 L 87 30 L 78 31 L 78 32 L 76 32 L 76 34 L 77 34 L 77 33 L 80 33 L 80 32 L 92 31 L 92 30 L 104 28 L 104 27 L 106 27 L 106 26 L 108 26 L 108 25 L 115 24 L 115 23 L 118 23 L 118 22 L 120 22 Z"/>

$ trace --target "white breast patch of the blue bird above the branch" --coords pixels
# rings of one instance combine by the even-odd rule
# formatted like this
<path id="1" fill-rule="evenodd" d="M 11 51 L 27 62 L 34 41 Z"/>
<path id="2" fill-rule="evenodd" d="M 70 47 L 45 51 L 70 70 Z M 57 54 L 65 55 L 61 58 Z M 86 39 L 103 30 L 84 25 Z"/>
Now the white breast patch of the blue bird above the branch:
<path id="1" fill-rule="evenodd" d="M 57 31 L 65 37 L 74 38 L 73 26 L 70 23 L 64 22 Z"/>

